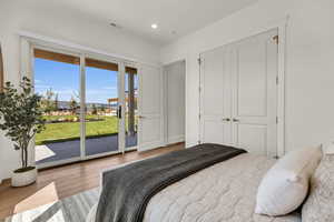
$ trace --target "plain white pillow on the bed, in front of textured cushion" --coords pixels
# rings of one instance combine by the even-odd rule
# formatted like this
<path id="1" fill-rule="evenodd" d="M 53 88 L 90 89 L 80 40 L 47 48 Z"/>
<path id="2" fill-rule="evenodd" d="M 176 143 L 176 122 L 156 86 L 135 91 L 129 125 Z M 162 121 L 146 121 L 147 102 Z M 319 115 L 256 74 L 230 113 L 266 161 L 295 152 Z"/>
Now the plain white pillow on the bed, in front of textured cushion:
<path id="1" fill-rule="evenodd" d="M 308 191 L 310 178 L 322 159 L 322 149 L 294 150 L 278 160 L 262 180 L 255 213 L 285 215 L 296 210 Z"/>

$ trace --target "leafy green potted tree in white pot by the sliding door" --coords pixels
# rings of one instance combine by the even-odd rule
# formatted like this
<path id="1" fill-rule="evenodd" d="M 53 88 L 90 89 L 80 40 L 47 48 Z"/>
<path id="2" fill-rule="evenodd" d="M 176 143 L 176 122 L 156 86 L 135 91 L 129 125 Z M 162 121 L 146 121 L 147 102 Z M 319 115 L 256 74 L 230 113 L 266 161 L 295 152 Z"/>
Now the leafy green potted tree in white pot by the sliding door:
<path id="1" fill-rule="evenodd" d="M 28 185 L 37 180 L 36 167 L 28 165 L 28 151 L 35 134 L 45 129 L 40 101 L 41 97 L 32 92 L 27 77 L 22 78 L 20 90 L 11 82 L 6 82 L 0 92 L 0 129 L 21 154 L 21 168 L 12 173 L 12 186 Z"/>

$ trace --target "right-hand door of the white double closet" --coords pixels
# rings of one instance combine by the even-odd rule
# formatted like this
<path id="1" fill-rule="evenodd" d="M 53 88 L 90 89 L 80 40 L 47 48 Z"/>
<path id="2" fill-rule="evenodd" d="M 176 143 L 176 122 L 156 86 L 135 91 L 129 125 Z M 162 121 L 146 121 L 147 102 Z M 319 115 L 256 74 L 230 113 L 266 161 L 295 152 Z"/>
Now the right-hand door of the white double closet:
<path id="1" fill-rule="evenodd" d="M 232 52 L 233 141 L 253 153 L 276 155 L 277 30 L 245 39 Z"/>

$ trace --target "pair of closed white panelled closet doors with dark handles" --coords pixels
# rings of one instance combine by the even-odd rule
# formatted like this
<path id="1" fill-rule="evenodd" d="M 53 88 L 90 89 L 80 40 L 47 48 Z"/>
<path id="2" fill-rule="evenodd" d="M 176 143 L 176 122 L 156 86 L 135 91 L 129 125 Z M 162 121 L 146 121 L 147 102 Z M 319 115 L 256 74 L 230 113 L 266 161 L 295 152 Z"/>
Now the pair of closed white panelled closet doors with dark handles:
<path id="1" fill-rule="evenodd" d="M 200 143 L 277 154 L 277 34 L 200 53 Z"/>

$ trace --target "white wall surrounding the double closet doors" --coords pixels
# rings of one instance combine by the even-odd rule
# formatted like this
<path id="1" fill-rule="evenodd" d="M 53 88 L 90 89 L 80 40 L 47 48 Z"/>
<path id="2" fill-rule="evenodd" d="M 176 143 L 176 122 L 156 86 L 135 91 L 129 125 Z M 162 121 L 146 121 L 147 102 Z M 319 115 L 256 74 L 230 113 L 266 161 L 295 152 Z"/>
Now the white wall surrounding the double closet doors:
<path id="1" fill-rule="evenodd" d="M 285 148 L 334 141 L 334 1 L 261 0 L 161 50 L 163 63 L 187 59 L 186 145 L 198 141 L 198 54 L 289 16 L 286 37 Z"/>

